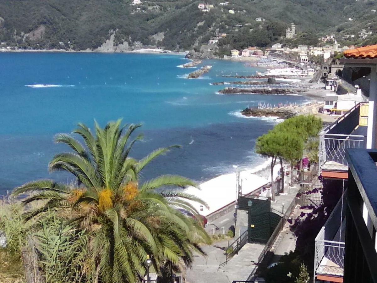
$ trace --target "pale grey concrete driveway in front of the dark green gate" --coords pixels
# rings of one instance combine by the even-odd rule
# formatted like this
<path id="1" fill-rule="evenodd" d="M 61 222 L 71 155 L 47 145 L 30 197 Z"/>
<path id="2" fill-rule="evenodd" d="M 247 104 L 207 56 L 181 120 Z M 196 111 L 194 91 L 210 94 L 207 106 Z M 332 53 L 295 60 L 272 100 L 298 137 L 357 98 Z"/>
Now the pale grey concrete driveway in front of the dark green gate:
<path id="1" fill-rule="evenodd" d="M 231 283 L 233 280 L 247 280 L 256 269 L 254 263 L 258 262 L 264 245 L 246 244 L 238 255 L 228 261 L 227 265 L 219 267 L 225 261 L 224 251 L 228 241 L 221 241 L 210 246 L 204 246 L 208 257 L 195 257 L 193 266 L 187 270 L 187 283 Z"/>

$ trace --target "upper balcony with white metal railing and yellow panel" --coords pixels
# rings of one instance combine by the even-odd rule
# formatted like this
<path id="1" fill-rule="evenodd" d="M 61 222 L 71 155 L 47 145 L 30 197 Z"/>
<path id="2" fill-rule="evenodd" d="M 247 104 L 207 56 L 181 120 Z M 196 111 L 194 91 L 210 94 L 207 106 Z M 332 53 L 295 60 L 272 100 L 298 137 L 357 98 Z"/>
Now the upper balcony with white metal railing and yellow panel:
<path id="1" fill-rule="evenodd" d="M 347 149 L 365 149 L 368 104 L 359 103 L 319 134 L 319 174 L 347 178 Z"/>

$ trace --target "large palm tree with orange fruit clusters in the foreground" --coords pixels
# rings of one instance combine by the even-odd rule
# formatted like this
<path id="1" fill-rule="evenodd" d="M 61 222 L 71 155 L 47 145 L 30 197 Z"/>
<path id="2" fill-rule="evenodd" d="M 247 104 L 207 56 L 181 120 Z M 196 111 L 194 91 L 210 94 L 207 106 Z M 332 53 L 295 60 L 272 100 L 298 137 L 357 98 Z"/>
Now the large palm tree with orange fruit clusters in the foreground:
<path id="1" fill-rule="evenodd" d="M 190 265 L 193 251 L 204 252 L 198 242 L 208 242 L 199 213 L 193 202 L 206 204 L 193 195 L 180 191 L 156 192 L 167 186 L 195 186 L 188 178 L 162 175 L 139 184 L 143 168 L 169 148 L 159 148 L 141 160 L 129 157 L 134 143 L 142 138 L 133 132 L 140 125 L 121 126 L 121 120 L 105 128 L 95 123 L 95 136 L 87 126 L 79 124 L 73 132 L 80 135 L 85 147 L 68 134 L 58 134 L 57 143 L 68 145 L 74 152 L 60 153 L 49 163 L 51 171 L 63 170 L 77 178 L 77 185 L 63 185 L 52 180 L 27 183 L 13 192 L 29 194 L 25 205 L 42 202 L 30 210 L 26 220 L 57 211 L 89 235 L 86 278 L 95 282 L 139 282 L 145 274 L 144 261 L 152 257 L 153 267 L 170 266 L 179 271 Z M 125 132 L 124 130 L 127 129 Z M 177 208 L 197 216 L 185 217 Z"/>

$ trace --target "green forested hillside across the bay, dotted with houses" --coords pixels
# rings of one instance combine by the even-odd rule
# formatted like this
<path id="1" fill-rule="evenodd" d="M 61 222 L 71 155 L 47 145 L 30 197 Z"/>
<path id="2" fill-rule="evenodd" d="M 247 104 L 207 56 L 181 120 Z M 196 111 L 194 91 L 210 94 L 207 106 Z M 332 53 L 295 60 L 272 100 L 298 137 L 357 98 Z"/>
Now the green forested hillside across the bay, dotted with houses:
<path id="1" fill-rule="evenodd" d="M 203 12 L 201 2 L 192 0 L 138 5 L 133 0 L 0 0 L 0 41 L 19 48 L 93 50 L 111 39 L 107 47 L 120 45 L 120 50 L 142 45 L 187 50 L 218 33 L 227 34 L 220 44 L 230 48 L 264 47 L 282 40 L 291 22 L 304 40 L 367 29 L 373 41 L 377 31 L 376 0 L 229 0 L 226 6 L 221 1 L 203 2 L 213 5 Z M 256 21 L 259 17 L 262 21 Z"/>

